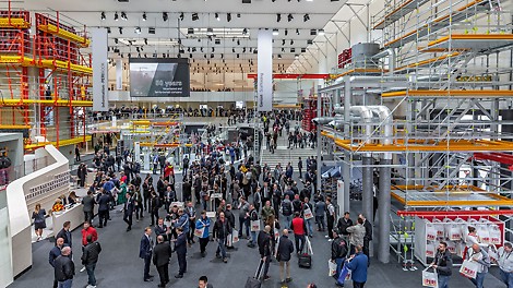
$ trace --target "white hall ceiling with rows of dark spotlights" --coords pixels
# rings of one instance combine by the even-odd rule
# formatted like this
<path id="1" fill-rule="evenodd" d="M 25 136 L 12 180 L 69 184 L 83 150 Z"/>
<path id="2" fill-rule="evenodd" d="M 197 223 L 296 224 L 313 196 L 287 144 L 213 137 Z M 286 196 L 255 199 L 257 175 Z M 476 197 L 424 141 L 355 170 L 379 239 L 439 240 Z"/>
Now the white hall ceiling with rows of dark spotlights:
<path id="1" fill-rule="evenodd" d="M 192 53 L 195 60 L 193 65 L 206 64 L 211 60 L 211 65 L 223 63 L 222 55 L 225 59 L 224 67 L 237 68 L 240 65 L 244 72 L 253 72 L 256 69 L 256 55 L 251 53 L 250 49 L 256 48 L 256 34 L 259 28 L 277 28 L 278 36 L 274 41 L 274 69 L 278 65 L 287 69 L 295 60 L 295 55 L 301 53 L 301 48 L 307 48 L 308 40 L 313 40 L 315 35 L 310 35 L 311 29 L 321 29 L 326 23 L 341 10 L 346 0 L 252 0 L 252 3 L 242 3 L 242 0 L 130 0 L 129 2 L 118 2 L 118 0 L 26 0 L 16 2 L 14 5 L 24 8 L 34 12 L 48 13 L 49 11 L 60 11 L 61 21 L 65 21 L 76 27 L 83 25 L 90 27 L 110 27 L 109 46 L 111 51 L 115 47 L 127 58 L 128 53 L 138 57 L 136 47 L 142 47 L 141 57 L 153 57 L 157 52 L 158 57 L 163 53 L 169 53 L 176 57 L 179 52 L 177 39 L 181 39 L 182 49 L 186 53 L 182 57 L 189 57 Z M 105 12 L 105 20 L 100 19 L 102 12 Z M 114 20 L 115 12 L 119 20 Z M 128 20 L 121 20 L 121 12 L 126 12 Z M 143 21 L 143 12 L 146 13 L 146 21 Z M 163 20 L 163 12 L 168 13 L 168 20 Z M 179 21 L 183 13 L 183 21 Z M 198 21 L 192 21 L 192 13 L 199 14 Z M 218 13 L 219 21 L 215 19 Z M 227 21 L 227 13 L 231 14 L 231 21 Z M 277 22 L 277 13 L 282 15 L 281 22 Z M 55 12 L 50 12 L 56 15 Z M 238 17 L 237 14 L 240 14 Z M 294 20 L 288 21 L 288 14 Z M 303 16 L 308 14 L 310 20 L 305 22 Z M 122 34 L 119 32 L 122 27 Z M 135 33 L 135 27 L 141 27 L 141 34 Z M 155 34 L 148 34 L 148 27 L 155 27 Z M 179 29 L 180 27 L 180 29 Z M 199 37 L 187 34 L 188 28 L 207 28 L 212 27 L 216 36 L 210 40 L 206 35 Z M 248 35 L 242 35 L 241 29 L 248 29 Z M 230 34 L 230 29 L 236 29 Z M 285 29 L 288 34 L 285 35 Z M 226 31 L 226 32 L 224 32 Z M 296 32 L 299 32 L 299 35 Z M 226 34 L 226 35 L 224 35 Z M 119 44 L 115 44 L 118 38 Z M 144 38 L 148 45 L 144 45 Z M 220 43 L 215 44 L 219 38 Z M 134 45 L 124 45 L 126 39 L 134 40 Z M 170 40 L 172 39 L 172 41 Z M 237 39 L 239 41 L 237 41 Z M 285 45 L 283 45 L 285 40 Z M 211 58 L 212 47 L 214 47 L 214 58 Z M 191 52 L 188 52 L 189 48 Z M 195 48 L 195 52 L 192 52 Z M 201 52 L 203 48 L 203 52 Z M 246 48 L 246 52 L 243 49 Z M 295 51 L 290 49 L 294 48 Z M 234 52 L 235 49 L 235 52 Z M 120 53 L 110 53 L 111 58 L 119 58 Z M 237 58 L 239 55 L 239 58 Z M 278 60 L 278 55 L 282 59 Z M 308 52 L 307 52 L 308 55 Z M 205 58 L 206 56 L 206 58 Z M 253 59 L 251 64 L 249 59 Z M 235 70 L 235 69 L 234 69 Z"/>

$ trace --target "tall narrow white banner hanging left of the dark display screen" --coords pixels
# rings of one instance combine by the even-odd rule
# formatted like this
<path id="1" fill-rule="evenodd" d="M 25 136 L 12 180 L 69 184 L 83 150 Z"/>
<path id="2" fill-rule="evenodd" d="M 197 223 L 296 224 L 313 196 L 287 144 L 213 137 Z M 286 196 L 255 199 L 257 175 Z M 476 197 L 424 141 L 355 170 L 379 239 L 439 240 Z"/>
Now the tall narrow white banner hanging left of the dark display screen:
<path id="1" fill-rule="evenodd" d="M 93 43 L 93 111 L 108 111 L 107 29 L 92 28 Z"/>

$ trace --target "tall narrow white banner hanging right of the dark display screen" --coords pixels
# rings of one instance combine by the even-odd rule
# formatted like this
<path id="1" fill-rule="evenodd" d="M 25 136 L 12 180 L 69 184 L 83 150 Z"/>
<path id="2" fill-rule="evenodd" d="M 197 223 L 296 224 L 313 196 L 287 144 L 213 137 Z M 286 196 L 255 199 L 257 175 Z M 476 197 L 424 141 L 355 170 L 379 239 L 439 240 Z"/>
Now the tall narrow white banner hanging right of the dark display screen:
<path id="1" fill-rule="evenodd" d="M 256 107 L 258 111 L 273 110 L 273 32 L 259 31 Z"/>

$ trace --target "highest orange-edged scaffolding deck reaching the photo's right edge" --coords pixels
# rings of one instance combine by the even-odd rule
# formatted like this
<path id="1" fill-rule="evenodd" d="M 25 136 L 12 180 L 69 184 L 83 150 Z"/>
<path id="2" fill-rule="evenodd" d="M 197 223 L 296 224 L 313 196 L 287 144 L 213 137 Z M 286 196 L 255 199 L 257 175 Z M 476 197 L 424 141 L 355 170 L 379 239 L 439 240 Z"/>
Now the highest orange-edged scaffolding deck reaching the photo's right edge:
<path id="1" fill-rule="evenodd" d="M 493 50 L 513 45 L 511 34 L 451 34 L 430 41 L 428 47 L 442 49 Z"/>

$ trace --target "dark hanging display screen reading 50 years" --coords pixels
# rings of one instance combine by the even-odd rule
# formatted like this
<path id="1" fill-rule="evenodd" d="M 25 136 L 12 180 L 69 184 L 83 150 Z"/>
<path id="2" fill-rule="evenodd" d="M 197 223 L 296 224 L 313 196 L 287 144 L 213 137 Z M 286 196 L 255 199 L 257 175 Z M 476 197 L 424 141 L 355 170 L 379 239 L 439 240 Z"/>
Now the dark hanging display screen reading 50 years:
<path id="1" fill-rule="evenodd" d="M 188 59 L 130 59 L 131 97 L 189 97 Z"/>

